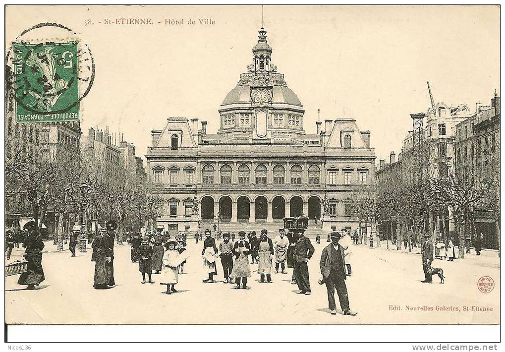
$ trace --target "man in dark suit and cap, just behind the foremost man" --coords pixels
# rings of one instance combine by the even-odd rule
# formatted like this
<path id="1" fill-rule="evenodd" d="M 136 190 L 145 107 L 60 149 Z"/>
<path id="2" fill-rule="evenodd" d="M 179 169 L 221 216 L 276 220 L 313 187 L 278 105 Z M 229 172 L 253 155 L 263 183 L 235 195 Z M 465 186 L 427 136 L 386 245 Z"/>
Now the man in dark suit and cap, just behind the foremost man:
<path id="1" fill-rule="evenodd" d="M 305 229 L 296 229 L 294 231 L 298 232 L 299 235 L 293 252 L 294 277 L 299 289 L 297 293 L 311 294 L 307 262 L 314 254 L 314 246 L 311 240 L 304 236 Z"/>

